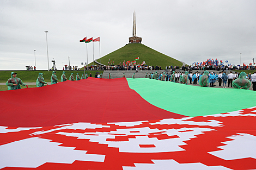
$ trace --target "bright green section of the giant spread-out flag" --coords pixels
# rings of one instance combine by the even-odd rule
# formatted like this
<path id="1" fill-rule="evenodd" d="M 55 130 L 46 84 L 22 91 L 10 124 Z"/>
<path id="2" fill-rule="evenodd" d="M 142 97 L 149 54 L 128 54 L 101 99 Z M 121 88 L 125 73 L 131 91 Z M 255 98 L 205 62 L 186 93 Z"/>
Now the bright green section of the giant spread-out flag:
<path id="1" fill-rule="evenodd" d="M 127 78 L 131 89 L 161 109 L 186 116 L 222 114 L 256 106 L 256 91 Z"/>

